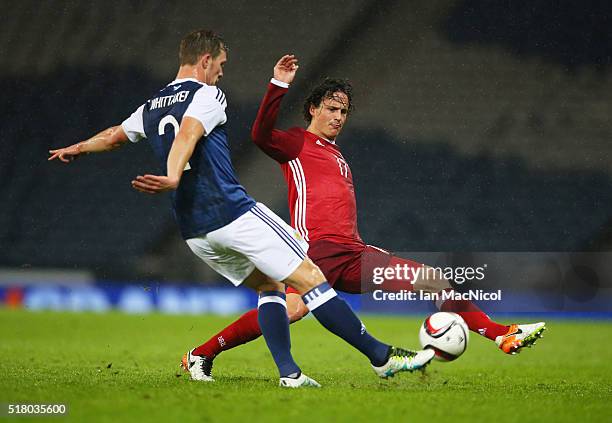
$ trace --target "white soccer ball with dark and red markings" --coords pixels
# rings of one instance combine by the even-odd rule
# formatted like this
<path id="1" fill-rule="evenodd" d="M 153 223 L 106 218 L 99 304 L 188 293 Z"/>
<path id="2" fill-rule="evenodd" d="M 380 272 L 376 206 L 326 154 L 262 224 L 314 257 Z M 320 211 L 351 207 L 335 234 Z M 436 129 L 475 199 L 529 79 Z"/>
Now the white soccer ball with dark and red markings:
<path id="1" fill-rule="evenodd" d="M 421 345 L 433 349 L 434 358 L 439 361 L 458 358 L 467 348 L 469 338 L 465 321 L 455 313 L 434 313 L 425 319 L 419 331 Z"/>

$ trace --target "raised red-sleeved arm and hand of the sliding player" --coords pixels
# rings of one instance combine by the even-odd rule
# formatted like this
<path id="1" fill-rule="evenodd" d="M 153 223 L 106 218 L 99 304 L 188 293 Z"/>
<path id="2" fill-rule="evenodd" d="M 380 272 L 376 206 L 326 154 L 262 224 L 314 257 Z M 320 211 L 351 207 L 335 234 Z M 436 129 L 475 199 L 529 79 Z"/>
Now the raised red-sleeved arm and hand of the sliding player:
<path id="1" fill-rule="evenodd" d="M 295 139 L 288 132 L 274 128 L 281 100 L 287 93 L 287 86 L 283 85 L 293 82 L 298 67 L 297 58 L 292 54 L 284 55 L 276 62 L 274 79 L 278 82 L 268 85 L 251 128 L 253 142 L 280 163 L 295 159 L 304 145 L 302 138 Z"/>

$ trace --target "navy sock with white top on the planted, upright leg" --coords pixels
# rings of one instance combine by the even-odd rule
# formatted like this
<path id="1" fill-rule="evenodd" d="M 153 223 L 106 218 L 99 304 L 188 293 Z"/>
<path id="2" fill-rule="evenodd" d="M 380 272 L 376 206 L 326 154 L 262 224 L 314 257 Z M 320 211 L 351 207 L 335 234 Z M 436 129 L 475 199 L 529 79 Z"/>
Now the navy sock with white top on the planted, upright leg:
<path id="1" fill-rule="evenodd" d="M 272 353 L 280 376 L 299 376 L 300 368 L 291 356 L 291 337 L 285 294 L 277 291 L 260 293 L 257 309 L 259 310 L 257 318 L 261 333 Z"/>

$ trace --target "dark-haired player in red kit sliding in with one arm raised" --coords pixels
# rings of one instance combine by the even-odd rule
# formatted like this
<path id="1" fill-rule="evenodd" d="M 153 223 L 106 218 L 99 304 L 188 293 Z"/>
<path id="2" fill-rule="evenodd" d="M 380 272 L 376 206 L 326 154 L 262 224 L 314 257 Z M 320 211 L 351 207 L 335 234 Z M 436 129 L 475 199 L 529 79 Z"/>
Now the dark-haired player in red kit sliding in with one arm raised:
<path id="1" fill-rule="evenodd" d="M 308 241 L 308 256 L 321 268 L 334 289 L 348 293 L 371 290 L 372 286 L 362 284 L 364 266 L 366 271 L 398 264 L 423 266 L 366 245 L 359 235 L 351 169 L 336 144 L 353 108 L 352 87 L 347 81 L 326 79 L 311 91 L 304 103 L 306 129 L 294 127 L 282 131 L 275 128 L 282 98 L 297 69 L 297 59 L 293 55 L 285 55 L 277 62 L 251 136 L 255 144 L 281 166 L 288 187 L 291 224 Z M 452 290 L 442 276 L 418 277 L 411 282 L 386 281 L 382 289 L 432 293 Z M 295 290 L 288 288 L 286 292 L 289 319 L 298 321 L 308 309 Z M 496 323 L 478 306 L 465 300 L 438 301 L 436 306 L 441 311 L 458 313 L 472 331 L 495 341 L 509 354 L 532 345 L 545 329 L 543 322 L 509 326 Z M 197 347 L 193 354 L 205 356 L 212 362 L 220 352 L 249 342 L 260 333 L 257 310 L 250 310 Z"/>

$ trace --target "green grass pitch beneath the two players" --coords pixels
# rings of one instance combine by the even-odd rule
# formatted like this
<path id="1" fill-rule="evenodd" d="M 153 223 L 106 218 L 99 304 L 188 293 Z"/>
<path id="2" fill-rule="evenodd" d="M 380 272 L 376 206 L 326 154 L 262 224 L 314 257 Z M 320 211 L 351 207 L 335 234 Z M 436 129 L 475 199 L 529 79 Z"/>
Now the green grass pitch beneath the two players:
<path id="1" fill-rule="evenodd" d="M 0 403 L 66 403 L 68 417 L 53 421 L 81 422 L 592 422 L 612 415 L 610 323 L 549 322 L 545 338 L 518 356 L 472 333 L 456 362 L 383 381 L 306 319 L 292 326 L 293 352 L 323 389 L 278 388 L 262 339 L 219 356 L 217 382 L 189 381 L 180 356 L 231 320 L 0 309 Z M 417 345 L 416 319 L 364 321 L 383 340 Z"/>

